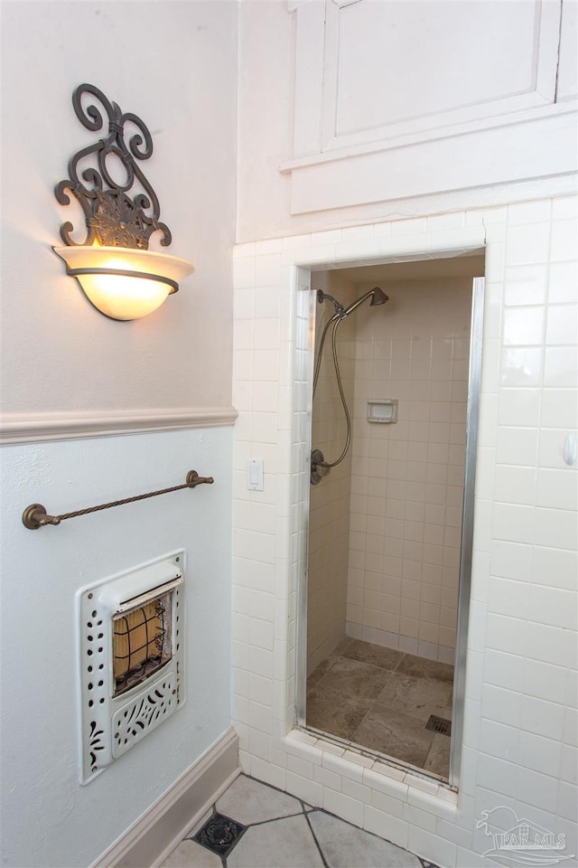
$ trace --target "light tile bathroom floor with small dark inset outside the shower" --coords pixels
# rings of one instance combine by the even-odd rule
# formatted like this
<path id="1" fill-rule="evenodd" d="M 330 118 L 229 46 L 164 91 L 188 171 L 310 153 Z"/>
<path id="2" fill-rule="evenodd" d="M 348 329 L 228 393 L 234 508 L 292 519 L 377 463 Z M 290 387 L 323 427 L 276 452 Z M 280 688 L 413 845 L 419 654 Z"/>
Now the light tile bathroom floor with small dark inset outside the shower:
<path id="1" fill-rule="evenodd" d="M 216 854 L 199 843 L 211 817 L 224 834 Z M 217 817 L 219 821 L 219 817 Z M 230 822 L 241 827 L 229 844 Z M 234 833 L 235 829 L 233 829 Z M 212 835 L 215 838 L 215 835 Z M 223 844 L 219 846 L 219 841 Z M 228 849 L 226 849 L 228 846 Z M 419 856 L 364 832 L 321 808 L 240 775 L 191 828 L 161 868 L 436 868 Z"/>

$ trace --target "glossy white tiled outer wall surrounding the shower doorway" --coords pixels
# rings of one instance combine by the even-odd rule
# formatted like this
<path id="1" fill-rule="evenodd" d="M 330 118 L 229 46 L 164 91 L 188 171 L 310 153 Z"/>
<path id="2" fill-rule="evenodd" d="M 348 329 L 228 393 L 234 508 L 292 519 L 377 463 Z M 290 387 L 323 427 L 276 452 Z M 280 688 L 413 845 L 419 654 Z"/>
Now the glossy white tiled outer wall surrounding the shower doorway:
<path id="1" fill-rule="evenodd" d="M 235 250 L 233 719 L 248 774 L 430 861 L 490 864 L 483 812 L 576 841 L 576 197 L 258 241 Z M 459 793 L 294 727 L 306 527 L 308 288 L 299 266 L 486 249 Z M 295 285 L 295 271 L 296 285 Z M 303 292 L 302 292 L 303 290 Z M 247 305 L 254 313 L 247 315 Z M 248 492 L 246 458 L 265 456 Z M 308 480 L 307 480 L 308 486 Z M 336 755 L 340 754 L 339 756 Z"/>

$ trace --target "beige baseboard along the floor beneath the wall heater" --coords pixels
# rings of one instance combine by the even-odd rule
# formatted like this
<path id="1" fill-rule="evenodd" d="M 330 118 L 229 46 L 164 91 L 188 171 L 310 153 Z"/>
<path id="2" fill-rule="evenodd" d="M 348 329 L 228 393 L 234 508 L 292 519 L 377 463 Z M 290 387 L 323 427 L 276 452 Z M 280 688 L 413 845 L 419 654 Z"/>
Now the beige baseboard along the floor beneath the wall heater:
<path id="1" fill-rule="evenodd" d="M 228 730 L 92 868 L 154 868 L 237 778 L 238 736 Z"/>

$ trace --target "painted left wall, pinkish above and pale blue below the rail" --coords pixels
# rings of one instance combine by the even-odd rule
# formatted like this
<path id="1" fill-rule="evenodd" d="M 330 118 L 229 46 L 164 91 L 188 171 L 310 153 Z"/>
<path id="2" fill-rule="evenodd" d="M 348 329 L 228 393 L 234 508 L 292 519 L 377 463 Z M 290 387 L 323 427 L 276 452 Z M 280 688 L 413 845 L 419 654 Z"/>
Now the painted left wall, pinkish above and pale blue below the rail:
<path id="1" fill-rule="evenodd" d="M 4 425 L 36 441 L 2 454 L 3 858 L 61 868 L 97 860 L 230 721 L 237 5 L 6 3 L 2 12 Z M 142 167 L 172 230 L 169 252 L 197 269 L 134 323 L 99 315 L 51 251 L 77 214 L 56 203 L 53 186 L 92 141 L 70 102 L 83 81 L 150 127 L 154 156 Z M 167 417 L 183 429 L 163 431 Z M 66 439 L 100 423 L 122 435 L 143 419 L 161 430 Z M 190 420 L 198 430 L 186 429 Z M 42 441 L 42 431 L 64 439 Z M 21 522 L 30 503 L 67 512 L 179 485 L 190 469 L 214 486 L 56 528 Z M 188 701 L 81 787 L 77 591 L 181 547 Z"/>

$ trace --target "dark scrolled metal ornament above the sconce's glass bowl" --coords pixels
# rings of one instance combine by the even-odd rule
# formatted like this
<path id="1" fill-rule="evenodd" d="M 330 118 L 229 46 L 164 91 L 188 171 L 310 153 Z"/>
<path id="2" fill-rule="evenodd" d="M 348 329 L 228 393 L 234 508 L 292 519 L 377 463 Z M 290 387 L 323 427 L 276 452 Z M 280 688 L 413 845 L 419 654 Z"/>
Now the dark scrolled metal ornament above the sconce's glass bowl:
<path id="1" fill-rule="evenodd" d="M 70 204 L 67 191 L 78 199 L 85 214 L 87 237 L 73 241 L 70 222 L 62 223 L 61 238 L 65 244 L 94 244 L 97 240 L 107 247 L 130 247 L 148 250 L 148 240 L 154 231 L 163 232 L 161 244 L 167 247 L 171 232 L 165 223 L 159 222 L 161 208 L 154 189 L 147 181 L 136 160 L 148 160 L 153 154 L 153 138 L 141 118 L 132 112 L 123 113 L 116 102 L 110 102 L 102 90 L 93 84 L 81 84 L 72 95 L 72 105 L 83 127 L 91 132 L 102 129 L 104 119 L 97 106 L 82 107 L 82 97 L 96 97 L 105 109 L 108 118 L 108 135 L 94 145 L 82 147 L 69 160 L 69 177 L 56 185 L 55 195 L 61 205 Z M 125 125 L 133 124 L 137 132 L 125 141 Z M 110 157 L 115 156 L 122 165 L 126 178 L 117 183 L 108 170 Z M 97 168 L 82 164 L 94 157 Z M 82 180 L 81 180 L 82 179 Z M 135 180 L 143 187 L 142 193 L 131 198 L 128 193 Z"/>

